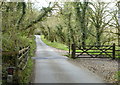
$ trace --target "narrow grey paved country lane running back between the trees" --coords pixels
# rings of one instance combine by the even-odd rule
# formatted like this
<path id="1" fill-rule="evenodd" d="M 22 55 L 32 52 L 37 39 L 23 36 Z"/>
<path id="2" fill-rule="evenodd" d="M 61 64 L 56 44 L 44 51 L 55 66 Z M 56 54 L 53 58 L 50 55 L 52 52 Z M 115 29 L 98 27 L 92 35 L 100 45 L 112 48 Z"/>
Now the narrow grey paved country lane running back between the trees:
<path id="1" fill-rule="evenodd" d="M 103 83 L 97 75 L 70 63 L 36 35 L 34 83 Z"/>

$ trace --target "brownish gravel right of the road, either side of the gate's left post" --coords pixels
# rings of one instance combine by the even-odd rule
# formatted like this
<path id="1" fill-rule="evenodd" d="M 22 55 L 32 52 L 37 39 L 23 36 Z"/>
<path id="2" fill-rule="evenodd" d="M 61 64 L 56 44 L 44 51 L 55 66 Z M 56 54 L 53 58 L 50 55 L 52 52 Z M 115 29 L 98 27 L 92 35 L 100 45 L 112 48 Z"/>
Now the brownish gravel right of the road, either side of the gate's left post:
<path id="1" fill-rule="evenodd" d="M 56 48 L 53 49 L 61 55 L 68 54 L 68 51 L 59 50 Z M 111 58 L 69 58 L 68 61 L 77 66 L 87 68 L 88 70 L 103 78 L 106 83 L 114 83 L 117 81 L 115 80 L 114 76 L 116 71 L 118 71 L 117 60 L 112 60 Z"/>

